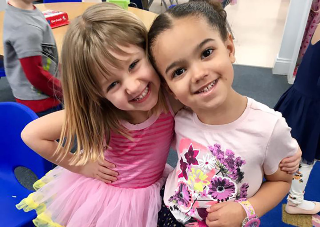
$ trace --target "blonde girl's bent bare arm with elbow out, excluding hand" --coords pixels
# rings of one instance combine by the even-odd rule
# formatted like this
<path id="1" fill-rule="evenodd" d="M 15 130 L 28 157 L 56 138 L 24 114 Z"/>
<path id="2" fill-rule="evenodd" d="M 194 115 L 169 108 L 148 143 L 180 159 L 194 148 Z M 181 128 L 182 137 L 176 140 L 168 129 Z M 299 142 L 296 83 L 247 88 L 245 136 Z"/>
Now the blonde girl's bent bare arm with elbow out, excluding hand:
<path id="1" fill-rule="evenodd" d="M 79 167 L 70 165 L 73 156 L 68 153 L 66 158 L 58 162 L 58 155 L 53 155 L 58 147 L 57 139 L 60 138 L 65 111 L 57 111 L 30 122 L 21 132 L 21 138 L 36 153 L 48 161 L 60 165 L 72 172 L 78 172 Z M 61 149 L 64 149 L 63 147 Z M 63 152 L 63 151 L 61 151 Z"/>

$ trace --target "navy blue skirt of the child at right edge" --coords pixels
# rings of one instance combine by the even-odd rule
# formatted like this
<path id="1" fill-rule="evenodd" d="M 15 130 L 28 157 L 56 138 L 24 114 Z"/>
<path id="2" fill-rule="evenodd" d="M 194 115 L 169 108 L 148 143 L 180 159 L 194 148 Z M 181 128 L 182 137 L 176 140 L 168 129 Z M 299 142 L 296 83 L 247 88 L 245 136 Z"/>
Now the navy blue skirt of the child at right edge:
<path id="1" fill-rule="evenodd" d="M 320 99 L 305 96 L 292 85 L 274 109 L 282 113 L 292 128 L 291 134 L 301 148 L 302 160 L 312 164 L 320 159 Z"/>

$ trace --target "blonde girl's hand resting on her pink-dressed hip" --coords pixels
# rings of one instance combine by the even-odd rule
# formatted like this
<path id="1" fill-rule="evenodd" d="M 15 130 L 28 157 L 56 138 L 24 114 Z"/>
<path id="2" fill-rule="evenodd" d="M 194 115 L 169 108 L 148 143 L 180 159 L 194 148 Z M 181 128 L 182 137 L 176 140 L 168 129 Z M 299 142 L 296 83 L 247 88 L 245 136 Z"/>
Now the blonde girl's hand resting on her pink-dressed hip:
<path id="1" fill-rule="evenodd" d="M 91 178 L 96 178 L 105 183 L 111 183 L 116 181 L 118 172 L 111 170 L 116 166 L 106 160 L 97 162 L 88 162 L 87 164 L 80 166 L 78 173 Z"/>

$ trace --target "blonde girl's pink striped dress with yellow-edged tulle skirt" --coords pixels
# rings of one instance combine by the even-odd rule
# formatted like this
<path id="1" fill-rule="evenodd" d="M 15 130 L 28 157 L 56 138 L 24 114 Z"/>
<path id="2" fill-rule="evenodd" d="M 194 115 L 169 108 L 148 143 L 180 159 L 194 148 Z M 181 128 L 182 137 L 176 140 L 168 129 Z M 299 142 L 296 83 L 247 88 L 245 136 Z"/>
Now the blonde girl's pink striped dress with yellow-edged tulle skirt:
<path id="1" fill-rule="evenodd" d="M 132 140 L 111 133 L 105 159 L 116 164 L 111 185 L 56 167 L 18 209 L 37 210 L 36 226 L 155 227 L 160 189 L 172 168 L 166 160 L 174 134 L 172 113 L 141 124 L 122 122 Z M 43 186 L 43 184 L 45 184 Z"/>

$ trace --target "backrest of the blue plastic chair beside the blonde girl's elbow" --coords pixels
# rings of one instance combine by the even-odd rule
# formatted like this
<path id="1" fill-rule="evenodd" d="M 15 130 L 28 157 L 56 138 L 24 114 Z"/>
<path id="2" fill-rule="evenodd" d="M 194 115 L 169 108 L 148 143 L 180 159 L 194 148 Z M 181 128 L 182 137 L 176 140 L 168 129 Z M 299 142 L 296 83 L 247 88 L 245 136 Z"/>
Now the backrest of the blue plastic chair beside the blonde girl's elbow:
<path id="1" fill-rule="evenodd" d="M 32 151 L 21 139 L 21 131 L 38 116 L 25 105 L 0 103 L 0 171 L 12 173 L 18 166 L 32 170 L 37 177 L 48 172 L 52 164 Z"/>

